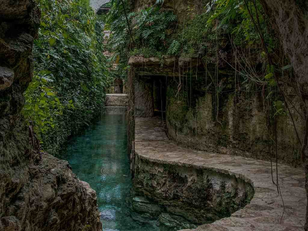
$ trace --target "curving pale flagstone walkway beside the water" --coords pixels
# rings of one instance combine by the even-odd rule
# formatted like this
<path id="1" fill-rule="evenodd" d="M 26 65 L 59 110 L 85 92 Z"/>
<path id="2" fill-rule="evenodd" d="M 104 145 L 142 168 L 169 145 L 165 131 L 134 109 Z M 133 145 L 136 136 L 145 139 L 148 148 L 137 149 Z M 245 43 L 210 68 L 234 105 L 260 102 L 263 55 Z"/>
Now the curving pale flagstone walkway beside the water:
<path id="1" fill-rule="evenodd" d="M 185 231 L 303 230 L 306 215 L 303 171 L 278 164 L 279 185 L 285 204 L 282 217 L 282 199 L 272 182 L 269 162 L 181 148 L 166 137 L 160 118 L 136 118 L 135 131 L 135 150 L 141 159 L 235 175 L 253 185 L 255 195 L 250 204 L 231 217 Z M 275 164 L 273 168 L 275 181 Z"/>

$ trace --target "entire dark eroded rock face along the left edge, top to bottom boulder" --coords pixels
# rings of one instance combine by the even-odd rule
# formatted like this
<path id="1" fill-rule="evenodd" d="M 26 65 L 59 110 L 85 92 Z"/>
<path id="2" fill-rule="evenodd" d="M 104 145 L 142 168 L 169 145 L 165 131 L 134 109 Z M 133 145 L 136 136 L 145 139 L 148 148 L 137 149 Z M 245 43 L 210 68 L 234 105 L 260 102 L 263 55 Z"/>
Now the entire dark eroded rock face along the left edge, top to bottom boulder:
<path id="1" fill-rule="evenodd" d="M 20 113 L 40 12 L 33 0 L 0 3 L 0 230 L 99 231 L 95 191 L 66 161 L 34 150 Z"/>

